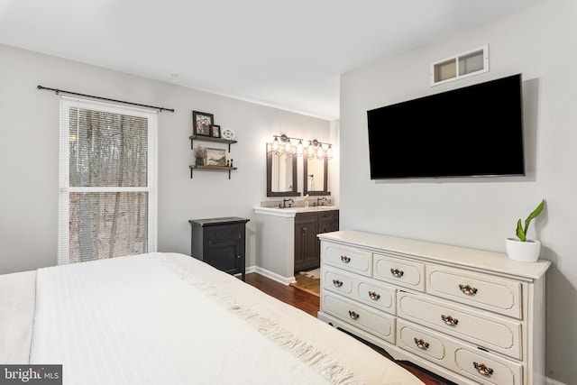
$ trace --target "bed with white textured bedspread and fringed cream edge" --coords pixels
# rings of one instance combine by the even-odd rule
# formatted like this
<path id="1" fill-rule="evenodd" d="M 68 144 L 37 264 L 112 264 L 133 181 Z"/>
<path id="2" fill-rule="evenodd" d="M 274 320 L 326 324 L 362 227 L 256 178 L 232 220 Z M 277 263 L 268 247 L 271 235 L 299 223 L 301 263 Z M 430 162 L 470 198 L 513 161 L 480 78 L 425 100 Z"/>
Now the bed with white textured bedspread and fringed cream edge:
<path id="1" fill-rule="evenodd" d="M 0 363 L 65 384 L 422 384 L 220 270 L 148 253 L 0 275 Z"/>

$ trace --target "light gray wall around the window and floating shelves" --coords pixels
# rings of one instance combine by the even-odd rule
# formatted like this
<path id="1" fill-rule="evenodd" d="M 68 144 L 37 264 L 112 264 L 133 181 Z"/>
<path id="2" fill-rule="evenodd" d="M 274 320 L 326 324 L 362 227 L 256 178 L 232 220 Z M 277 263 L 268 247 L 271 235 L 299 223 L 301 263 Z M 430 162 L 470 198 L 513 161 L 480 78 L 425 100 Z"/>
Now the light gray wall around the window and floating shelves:
<path id="1" fill-rule="evenodd" d="M 57 261 L 60 98 L 38 85 L 176 109 L 159 115 L 161 252 L 189 254 L 188 219 L 253 218 L 252 207 L 266 200 L 265 143 L 273 134 L 322 142 L 332 135 L 333 124 L 322 119 L 1 44 L 0 69 L 0 273 Z M 213 171 L 197 171 L 190 179 L 193 110 L 214 114 L 216 124 L 236 132 L 231 158 L 238 170 L 230 180 Z M 249 222 L 248 266 L 255 263 L 254 237 Z"/>

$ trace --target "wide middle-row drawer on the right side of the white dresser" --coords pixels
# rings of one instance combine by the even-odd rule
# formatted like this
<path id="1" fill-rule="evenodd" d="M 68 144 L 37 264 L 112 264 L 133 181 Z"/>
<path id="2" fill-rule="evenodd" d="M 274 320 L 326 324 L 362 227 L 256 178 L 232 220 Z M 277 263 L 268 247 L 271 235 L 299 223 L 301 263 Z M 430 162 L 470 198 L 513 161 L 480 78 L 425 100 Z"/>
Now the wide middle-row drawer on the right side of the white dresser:
<path id="1" fill-rule="evenodd" d="M 521 325 L 503 316 L 493 316 L 440 299 L 398 292 L 398 316 L 454 335 L 492 352 L 521 360 Z"/>

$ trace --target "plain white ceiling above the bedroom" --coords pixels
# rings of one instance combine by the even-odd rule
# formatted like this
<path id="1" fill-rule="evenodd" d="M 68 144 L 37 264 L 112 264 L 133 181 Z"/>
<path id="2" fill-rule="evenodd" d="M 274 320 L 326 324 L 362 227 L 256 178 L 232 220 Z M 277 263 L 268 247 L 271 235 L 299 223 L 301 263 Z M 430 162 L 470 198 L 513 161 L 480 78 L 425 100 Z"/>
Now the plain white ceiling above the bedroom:
<path id="1" fill-rule="evenodd" d="M 341 74 L 544 1 L 0 0 L 0 43 L 335 119 Z"/>

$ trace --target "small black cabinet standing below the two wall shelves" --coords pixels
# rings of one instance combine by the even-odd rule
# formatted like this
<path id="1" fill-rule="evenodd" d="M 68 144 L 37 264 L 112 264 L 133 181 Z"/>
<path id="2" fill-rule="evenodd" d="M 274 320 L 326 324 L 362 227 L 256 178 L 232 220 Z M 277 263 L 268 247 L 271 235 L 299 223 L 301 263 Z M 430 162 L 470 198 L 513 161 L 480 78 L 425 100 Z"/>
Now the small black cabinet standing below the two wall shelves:
<path id="1" fill-rule="evenodd" d="M 218 270 L 245 277 L 245 225 L 239 217 L 193 219 L 191 255 Z"/>

